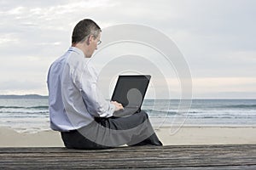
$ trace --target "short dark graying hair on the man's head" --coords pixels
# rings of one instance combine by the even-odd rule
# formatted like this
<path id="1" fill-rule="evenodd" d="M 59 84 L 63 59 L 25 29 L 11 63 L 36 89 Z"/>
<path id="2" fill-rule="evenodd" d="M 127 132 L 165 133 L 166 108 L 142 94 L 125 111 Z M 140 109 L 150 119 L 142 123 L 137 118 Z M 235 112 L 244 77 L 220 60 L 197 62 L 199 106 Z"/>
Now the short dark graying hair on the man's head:
<path id="1" fill-rule="evenodd" d="M 98 26 L 95 21 L 90 19 L 80 20 L 73 28 L 72 43 L 84 42 L 90 35 L 96 38 L 101 31 L 100 26 Z"/>

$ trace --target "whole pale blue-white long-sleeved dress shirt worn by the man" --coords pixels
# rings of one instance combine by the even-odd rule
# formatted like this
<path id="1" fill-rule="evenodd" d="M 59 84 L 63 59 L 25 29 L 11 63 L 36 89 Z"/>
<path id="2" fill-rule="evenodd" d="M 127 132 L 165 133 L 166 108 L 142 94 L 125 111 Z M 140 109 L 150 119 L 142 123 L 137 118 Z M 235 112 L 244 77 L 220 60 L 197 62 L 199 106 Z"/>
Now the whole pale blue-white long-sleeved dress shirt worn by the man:
<path id="1" fill-rule="evenodd" d="M 96 86 L 98 73 L 79 48 L 50 65 L 48 72 L 49 119 L 53 130 L 67 132 L 84 127 L 94 117 L 113 116 L 115 106 Z"/>

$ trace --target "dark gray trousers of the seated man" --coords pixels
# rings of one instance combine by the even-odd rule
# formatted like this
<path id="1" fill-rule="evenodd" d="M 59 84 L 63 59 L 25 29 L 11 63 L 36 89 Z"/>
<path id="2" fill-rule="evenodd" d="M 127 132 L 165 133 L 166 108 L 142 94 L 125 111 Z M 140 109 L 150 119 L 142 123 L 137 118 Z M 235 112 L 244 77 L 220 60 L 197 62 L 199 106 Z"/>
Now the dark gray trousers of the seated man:
<path id="1" fill-rule="evenodd" d="M 68 149 L 107 149 L 123 144 L 162 145 L 145 111 L 125 117 L 96 117 L 86 127 L 61 132 L 61 138 Z"/>

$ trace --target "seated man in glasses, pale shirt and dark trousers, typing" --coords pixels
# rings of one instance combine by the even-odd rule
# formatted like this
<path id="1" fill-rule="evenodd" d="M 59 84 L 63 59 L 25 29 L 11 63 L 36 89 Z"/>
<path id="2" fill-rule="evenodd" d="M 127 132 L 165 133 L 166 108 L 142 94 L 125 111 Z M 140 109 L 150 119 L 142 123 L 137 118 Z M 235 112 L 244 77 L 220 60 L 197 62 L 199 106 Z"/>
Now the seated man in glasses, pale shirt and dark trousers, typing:
<path id="1" fill-rule="evenodd" d="M 103 99 L 90 57 L 100 44 L 101 28 L 81 20 L 73 29 L 72 47 L 50 65 L 48 73 L 50 127 L 61 132 L 70 149 L 104 149 L 122 144 L 162 145 L 144 111 L 114 117 L 123 110 Z"/>

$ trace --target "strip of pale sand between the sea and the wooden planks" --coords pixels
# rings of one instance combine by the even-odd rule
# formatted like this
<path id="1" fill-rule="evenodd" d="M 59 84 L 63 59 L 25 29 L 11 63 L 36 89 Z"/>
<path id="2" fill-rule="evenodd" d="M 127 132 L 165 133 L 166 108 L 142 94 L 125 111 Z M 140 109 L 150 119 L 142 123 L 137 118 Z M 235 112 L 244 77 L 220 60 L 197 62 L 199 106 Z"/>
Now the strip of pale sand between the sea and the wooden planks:
<path id="1" fill-rule="evenodd" d="M 176 133 L 170 127 L 155 129 L 164 145 L 188 144 L 256 144 L 256 127 L 183 126 Z M 61 135 L 47 130 L 17 133 L 0 127 L 0 147 L 63 147 Z"/>

